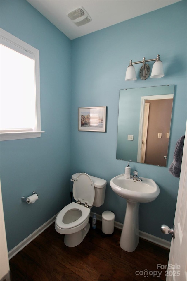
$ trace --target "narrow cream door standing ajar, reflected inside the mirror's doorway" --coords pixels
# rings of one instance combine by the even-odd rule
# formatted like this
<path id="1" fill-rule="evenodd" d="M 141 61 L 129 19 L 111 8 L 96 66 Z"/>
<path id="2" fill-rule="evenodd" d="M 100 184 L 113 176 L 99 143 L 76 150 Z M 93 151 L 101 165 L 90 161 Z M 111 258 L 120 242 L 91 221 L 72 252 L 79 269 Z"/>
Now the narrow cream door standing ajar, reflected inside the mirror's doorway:
<path id="1" fill-rule="evenodd" d="M 146 102 L 144 108 L 144 118 L 143 118 L 143 135 L 142 135 L 142 146 L 141 146 L 141 163 L 145 161 L 146 155 L 146 143 L 147 143 L 147 129 L 148 129 L 148 119 L 149 119 L 149 102 Z"/>

